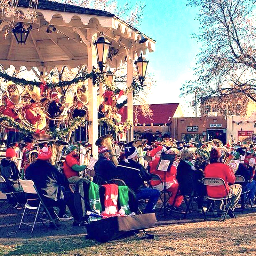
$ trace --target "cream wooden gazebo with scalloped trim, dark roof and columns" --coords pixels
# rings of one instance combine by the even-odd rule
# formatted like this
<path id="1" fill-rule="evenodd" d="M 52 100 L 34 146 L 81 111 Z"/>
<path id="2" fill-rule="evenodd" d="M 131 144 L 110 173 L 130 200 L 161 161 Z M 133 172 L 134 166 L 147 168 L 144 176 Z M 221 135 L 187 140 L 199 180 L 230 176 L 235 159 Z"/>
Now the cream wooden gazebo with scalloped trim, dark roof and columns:
<path id="1" fill-rule="evenodd" d="M 44 79 L 45 74 L 52 68 L 61 69 L 63 66 L 74 68 L 84 64 L 91 72 L 97 67 L 97 54 L 94 42 L 103 33 L 112 42 L 108 64 L 117 68 L 121 62 L 127 62 L 127 86 L 133 81 L 133 63 L 141 53 L 146 54 L 155 50 L 155 41 L 129 24 L 117 18 L 114 14 L 88 9 L 68 4 L 39 0 L 36 22 L 30 18 L 29 1 L 19 1 L 18 10 L 23 17 L 6 15 L 0 24 L 0 64 L 6 69 L 13 65 L 16 69 L 25 66 L 28 70 L 36 67 Z M 26 44 L 17 44 L 13 33 L 4 39 L 5 27 L 18 22 L 27 23 L 30 30 Z M 145 38 L 141 40 L 141 38 Z M 36 72 L 36 71 L 35 71 Z M 98 139 L 97 122 L 97 86 L 92 79 L 88 80 L 89 94 L 89 142 L 93 145 L 92 155 L 97 156 L 95 141 Z M 100 88 L 102 94 L 102 88 Z M 133 124 L 133 95 L 128 94 L 128 118 Z M 133 127 L 129 140 L 133 138 Z"/>

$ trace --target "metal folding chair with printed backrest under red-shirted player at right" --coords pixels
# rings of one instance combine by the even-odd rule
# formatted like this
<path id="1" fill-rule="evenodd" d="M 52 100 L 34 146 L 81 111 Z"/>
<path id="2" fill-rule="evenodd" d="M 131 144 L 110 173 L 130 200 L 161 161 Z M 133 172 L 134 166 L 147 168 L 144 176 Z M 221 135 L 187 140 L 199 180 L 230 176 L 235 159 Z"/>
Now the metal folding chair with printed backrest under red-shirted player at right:
<path id="1" fill-rule="evenodd" d="M 203 184 L 205 186 L 210 186 L 210 187 L 224 186 L 226 194 L 227 194 L 227 196 L 225 196 L 225 197 L 216 198 L 216 197 L 208 196 L 208 193 L 207 193 L 207 198 L 208 198 L 208 200 L 210 200 L 211 203 L 210 203 L 209 208 L 206 211 L 206 217 L 207 217 L 207 213 L 209 212 L 209 210 L 211 208 L 212 208 L 212 212 L 213 212 L 213 215 L 214 215 L 214 211 L 213 211 L 213 207 L 212 207 L 212 203 L 214 201 L 223 201 L 224 207 L 226 207 L 226 211 L 225 211 L 225 215 L 224 215 L 223 221 L 226 220 L 226 217 L 227 217 L 227 214 L 228 214 L 228 211 L 229 211 L 230 208 L 232 209 L 232 211 L 234 213 L 234 216 L 236 218 L 233 205 L 231 204 L 230 197 L 228 196 L 228 190 L 227 190 L 225 181 L 223 179 L 221 179 L 221 178 L 203 178 Z M 225 200 L 227 200 L 228 203 L 225 204 Z"/>

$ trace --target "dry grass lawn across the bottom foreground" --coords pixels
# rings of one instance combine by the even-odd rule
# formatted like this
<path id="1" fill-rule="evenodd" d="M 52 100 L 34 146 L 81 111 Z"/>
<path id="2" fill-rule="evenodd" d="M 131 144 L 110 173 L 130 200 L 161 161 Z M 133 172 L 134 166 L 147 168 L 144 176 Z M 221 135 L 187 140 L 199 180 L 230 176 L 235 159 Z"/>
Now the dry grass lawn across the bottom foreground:
<path id="1" fill-rule="evenodd" d="M 84 235 L 47 236 L 33 239 L 2 238 L 0 255 L 256 255 L 256 213 L 239 215 L 225 222 L 203 221 L 149 229 L 152 240 L 129 237 L 105 244 Z"/>

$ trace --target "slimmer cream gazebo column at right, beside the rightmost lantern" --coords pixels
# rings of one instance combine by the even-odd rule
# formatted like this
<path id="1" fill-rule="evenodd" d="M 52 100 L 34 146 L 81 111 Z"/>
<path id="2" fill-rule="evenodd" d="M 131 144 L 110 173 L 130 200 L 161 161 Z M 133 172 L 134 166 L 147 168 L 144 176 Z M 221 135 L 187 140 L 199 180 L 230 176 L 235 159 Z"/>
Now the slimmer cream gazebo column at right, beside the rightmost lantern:
<path id="1" fill-rule="evenodd" d="M 133 70 L 132 70 L 132 63 L 133 63 L 133 54 L 132 48 L 128 49 L 127 51 L 127 87 L 130 87 L 132 84 L 132 77 L 133 77 Z M 130 129 L 130 136 L 129 141 L 133 140 L 133 94 L 130 92 L 127 95 L 127 120 L 132 122 L 132 127 Z"/>

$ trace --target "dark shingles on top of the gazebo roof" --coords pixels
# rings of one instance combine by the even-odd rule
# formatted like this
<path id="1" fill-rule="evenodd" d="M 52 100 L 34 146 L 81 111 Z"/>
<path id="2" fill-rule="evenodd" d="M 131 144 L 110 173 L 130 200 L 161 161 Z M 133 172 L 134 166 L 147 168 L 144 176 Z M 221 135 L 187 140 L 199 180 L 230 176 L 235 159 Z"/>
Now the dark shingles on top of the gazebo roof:
<path id="1" fill-rule="evenodd" d="M 26 0 L 19 0 L 19 7 L 29 7 L 29 2 Z M 50 10 L 50 11 L 58 11 L 58 12 L 72 12 L 72 13 L 80 13 L 80 14 L 89 14 L 89 15 L 97 15 L 97 16 L 105 16 L 105 17 L 114 17 L 115 15 L 106 12 L 100 11 L 90 8 L 79 7 L 76 5 L 71 4 L 61 4 L 53 1 L 46 1 L 46 0 L 38 0 L 37 5 L 38 10 Z"/>

